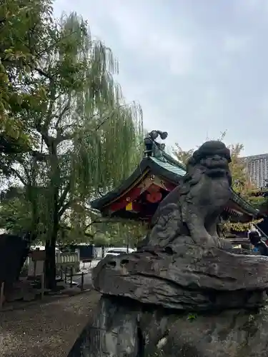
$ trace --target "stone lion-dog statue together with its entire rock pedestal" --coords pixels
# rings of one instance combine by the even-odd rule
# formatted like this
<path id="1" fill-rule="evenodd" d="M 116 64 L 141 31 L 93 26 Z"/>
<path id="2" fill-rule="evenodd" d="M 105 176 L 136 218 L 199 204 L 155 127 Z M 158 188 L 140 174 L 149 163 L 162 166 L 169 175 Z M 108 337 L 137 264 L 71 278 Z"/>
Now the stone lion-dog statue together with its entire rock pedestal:
<path id="1" fill-rule="evenodd" d="M 220 141 L 203 144 L 160 203 L 147 246 L 94 268 L 103 295 L 68 357 L 267 356 L 268 259 L 219 248 L 230 161 Z"/>

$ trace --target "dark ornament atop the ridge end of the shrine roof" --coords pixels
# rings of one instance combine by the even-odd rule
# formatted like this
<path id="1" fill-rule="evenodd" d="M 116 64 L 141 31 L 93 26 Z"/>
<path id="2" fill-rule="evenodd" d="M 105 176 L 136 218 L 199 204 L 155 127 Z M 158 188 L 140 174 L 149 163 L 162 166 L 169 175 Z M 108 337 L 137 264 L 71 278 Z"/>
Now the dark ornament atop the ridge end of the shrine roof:
<path id="1" fill-rule="evenodd" d="M 167 131 L 152 130 L 144 139 L 144 156 L 154 156 L 157 159 L 164 159 L 163 152 L 165 149 L 164 143 L 158 143 L 156 139 L 160 136 L 160 139 L 167 139 Z"/>

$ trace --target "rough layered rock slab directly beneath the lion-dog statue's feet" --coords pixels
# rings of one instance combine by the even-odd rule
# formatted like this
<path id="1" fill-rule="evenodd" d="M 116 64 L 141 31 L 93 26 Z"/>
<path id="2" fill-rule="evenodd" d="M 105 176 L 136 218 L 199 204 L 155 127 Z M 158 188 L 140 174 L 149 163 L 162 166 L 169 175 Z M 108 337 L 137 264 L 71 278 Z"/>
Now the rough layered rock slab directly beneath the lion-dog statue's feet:
<path id="1" fill-rule="evenodd" d="M 189 243 L 190 239 L 180 237 L 165 248 L 107 256 L 94 268 L 94 287 L 105 295 L 181 311 L 265 305 L 267 257 L 207 249 Z"/>

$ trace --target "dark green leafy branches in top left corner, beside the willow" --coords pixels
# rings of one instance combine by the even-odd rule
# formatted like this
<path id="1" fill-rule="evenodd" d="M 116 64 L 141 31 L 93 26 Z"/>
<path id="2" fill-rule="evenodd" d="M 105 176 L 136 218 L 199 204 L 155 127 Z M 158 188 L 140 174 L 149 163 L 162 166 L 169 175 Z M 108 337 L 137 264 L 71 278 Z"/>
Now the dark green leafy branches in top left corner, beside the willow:
<path id="1" fill-rule="evenodd" d="M 46 50 L 51 0 L 4 0 L 0 4 L 0 133 L 28 144 L 21 109 L 34 102 L 27 81 Z"/>

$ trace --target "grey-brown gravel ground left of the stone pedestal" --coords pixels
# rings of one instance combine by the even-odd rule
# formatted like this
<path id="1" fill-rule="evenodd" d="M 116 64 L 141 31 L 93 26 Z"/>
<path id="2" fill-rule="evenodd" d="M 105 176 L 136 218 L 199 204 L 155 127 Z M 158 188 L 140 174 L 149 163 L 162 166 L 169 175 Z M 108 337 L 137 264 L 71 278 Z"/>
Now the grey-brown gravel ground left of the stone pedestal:
<path id="1" fill-rule="evenodd" d="M 98 300 L 89 291 L 0 313 L 0 356 L 66 357 Z"/>

